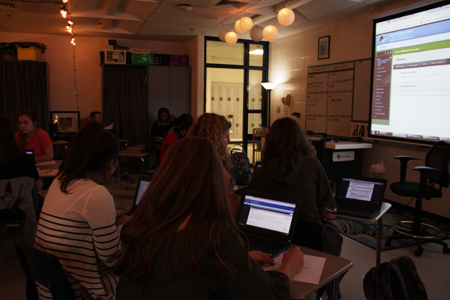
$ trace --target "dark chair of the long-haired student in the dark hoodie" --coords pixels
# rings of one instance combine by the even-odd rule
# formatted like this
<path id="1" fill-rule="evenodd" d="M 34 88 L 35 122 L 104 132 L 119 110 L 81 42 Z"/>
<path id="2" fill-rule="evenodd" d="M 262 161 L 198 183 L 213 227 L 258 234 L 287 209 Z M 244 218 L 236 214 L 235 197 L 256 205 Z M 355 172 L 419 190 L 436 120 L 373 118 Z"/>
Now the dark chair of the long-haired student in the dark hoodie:
<path id="1" fill-rule="evenodd" d="M 323 224 L 318 221 L 297 217 L 295 223 L 295 231 L 292 236 L 292 243 L 299 246 L 307 247 L 313 250 L 324 252 L 325 235 Z M 324 296 L 325 286 L 319 288 L 316 293 L 316 300 Z"/>

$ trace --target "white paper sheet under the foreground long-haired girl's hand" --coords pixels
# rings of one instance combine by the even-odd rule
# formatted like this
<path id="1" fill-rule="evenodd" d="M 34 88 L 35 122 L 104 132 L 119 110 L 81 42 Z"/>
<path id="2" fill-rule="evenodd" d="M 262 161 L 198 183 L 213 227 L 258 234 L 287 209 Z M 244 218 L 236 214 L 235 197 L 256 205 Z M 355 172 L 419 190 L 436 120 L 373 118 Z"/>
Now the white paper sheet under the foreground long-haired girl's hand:
<path id="1" fill-rule="evenodd" d="M 283 254 L 275 257 L 275 265 L 264 263 L 262 268 L 266 271 L 276 270 L 281 266 L 281 260 L 283 259 Z M 317 257 L 311 255 L 304 255 L 303 268 L 295 274 L 293 280 L 318 284 L 320 281 L 320 276 L 322 274 L 323 266 L 325 265 L 325 257 Z"/>

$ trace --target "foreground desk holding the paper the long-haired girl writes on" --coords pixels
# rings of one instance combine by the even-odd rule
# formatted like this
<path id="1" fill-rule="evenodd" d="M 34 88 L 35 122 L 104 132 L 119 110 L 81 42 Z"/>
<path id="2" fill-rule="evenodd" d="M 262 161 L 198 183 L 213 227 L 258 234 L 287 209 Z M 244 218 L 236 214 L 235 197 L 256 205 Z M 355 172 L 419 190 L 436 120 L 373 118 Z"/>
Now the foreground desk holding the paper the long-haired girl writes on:
<path id="1" fill-rule="evenodd" d="M 337 279 L 340 274 L 353 267 L 353 262 L 346 258 L 337 257 L 324 252 L 312 250 L 306 247 L 301 247 L 301 252 L 306 255 L 325 257 L 325 265 L 323 266 L 322 275 L 318 284 L 293 281 L 290 289 L 291 299 L 303 299 L 324 286 L 328 282 L 332 282 L 332 294 L 333 300 L 337 299 Z"/>

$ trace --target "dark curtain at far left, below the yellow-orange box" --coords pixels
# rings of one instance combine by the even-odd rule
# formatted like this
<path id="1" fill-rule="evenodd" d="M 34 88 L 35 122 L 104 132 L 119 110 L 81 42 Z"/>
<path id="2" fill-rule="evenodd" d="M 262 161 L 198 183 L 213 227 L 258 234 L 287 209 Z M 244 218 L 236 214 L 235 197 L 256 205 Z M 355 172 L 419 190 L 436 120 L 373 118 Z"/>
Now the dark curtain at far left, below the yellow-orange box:
<path id="1" fill-rule="evenodd" d="M 18 129 L 23 110 L 37 114 L 39 128 L 47 131 L 50 116 L 47 108 L 46 62 L 0 61 L 0 115 Z"/>

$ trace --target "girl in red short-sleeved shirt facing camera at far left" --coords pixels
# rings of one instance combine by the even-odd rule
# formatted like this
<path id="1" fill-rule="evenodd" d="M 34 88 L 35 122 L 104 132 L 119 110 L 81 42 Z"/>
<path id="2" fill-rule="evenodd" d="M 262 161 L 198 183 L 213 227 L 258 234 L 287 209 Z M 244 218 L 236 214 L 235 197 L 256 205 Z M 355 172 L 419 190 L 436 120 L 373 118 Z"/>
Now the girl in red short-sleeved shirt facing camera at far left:
<path id="1" fill-rule="evenodd" d="M 15 140 L 20 149 L 34 149 L 34 160 L 53 159 L 50 136 L 37 125 L 37 115 L 30 110 L 22 111 L 18 120 L 19 131 Z"/>

